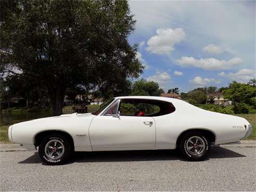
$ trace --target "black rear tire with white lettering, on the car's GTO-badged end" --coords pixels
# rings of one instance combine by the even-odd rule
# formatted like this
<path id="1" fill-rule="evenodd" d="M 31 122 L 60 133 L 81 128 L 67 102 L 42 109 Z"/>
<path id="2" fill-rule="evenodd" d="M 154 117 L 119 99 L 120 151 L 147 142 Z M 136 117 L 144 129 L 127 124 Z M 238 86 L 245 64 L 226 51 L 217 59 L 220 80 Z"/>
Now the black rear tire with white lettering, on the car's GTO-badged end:
<path id="1" fill-rule="evenodd" d="M 198 139 L 197 144 L 195 142 L 196 139 Z M 192 144 L 191 141 L 194 144 Z M 205 134 L 198 131 L 190 131 L 183 135 L 183 137 L 180 140 L 178 148 L 181 155 L 185 159 L 190 161 L 201 161 L 207 158 L 211 148 L 211 143 Z"/>

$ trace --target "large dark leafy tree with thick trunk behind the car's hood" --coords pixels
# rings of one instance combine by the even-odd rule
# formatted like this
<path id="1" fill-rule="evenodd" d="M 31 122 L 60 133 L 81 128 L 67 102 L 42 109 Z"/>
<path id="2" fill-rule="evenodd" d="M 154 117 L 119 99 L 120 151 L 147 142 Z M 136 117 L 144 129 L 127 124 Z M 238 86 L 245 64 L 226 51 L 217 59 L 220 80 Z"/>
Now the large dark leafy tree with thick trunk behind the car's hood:
<path id="1" fill-rule="evenodd" d="M 47 89 L 53 115 L 67 88 L 122 92 L 143 66 L 127 1 L 1 1 L 1 72 Z M 125 86 L 124 86 L 125 85 Z"/>

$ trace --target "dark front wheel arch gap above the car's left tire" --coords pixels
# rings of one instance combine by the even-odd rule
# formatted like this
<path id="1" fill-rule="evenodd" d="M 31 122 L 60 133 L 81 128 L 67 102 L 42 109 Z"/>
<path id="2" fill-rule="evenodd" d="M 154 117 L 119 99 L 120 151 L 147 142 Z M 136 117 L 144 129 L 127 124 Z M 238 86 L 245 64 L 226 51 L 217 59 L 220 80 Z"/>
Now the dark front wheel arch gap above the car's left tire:
<path id="1" fill-rule="evenodd" d="M 74 139 L 68 132 L 65 132 L 63 130 L 45 130 L 45 131 L 36 133 L 33 139 L 35 147 L 39 146 L 39 144 L 43 141 L 43 139 L 49 134 L 61 134 L 65 136 L 70 141 L 71 146 L 74 147 Z"/>

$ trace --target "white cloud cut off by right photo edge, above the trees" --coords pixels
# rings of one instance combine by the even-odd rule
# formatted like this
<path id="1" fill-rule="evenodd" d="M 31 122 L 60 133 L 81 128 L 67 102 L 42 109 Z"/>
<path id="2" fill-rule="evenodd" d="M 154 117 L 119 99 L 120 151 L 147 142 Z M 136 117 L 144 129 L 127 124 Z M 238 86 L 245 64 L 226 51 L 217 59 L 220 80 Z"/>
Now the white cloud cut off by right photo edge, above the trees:
<path id="1" fill-rule="evenodd" d="M 218 73 L 219 76 L 230 78 L 231 80 L 235 80 L 240 83 L 247 83 L 250 79 L 255 78 L 256 71 L 249 69 L 249 68 L 243 68 L 242 70 L 239 70 L 236 73 L 227 73 L 224 72 Z"/>

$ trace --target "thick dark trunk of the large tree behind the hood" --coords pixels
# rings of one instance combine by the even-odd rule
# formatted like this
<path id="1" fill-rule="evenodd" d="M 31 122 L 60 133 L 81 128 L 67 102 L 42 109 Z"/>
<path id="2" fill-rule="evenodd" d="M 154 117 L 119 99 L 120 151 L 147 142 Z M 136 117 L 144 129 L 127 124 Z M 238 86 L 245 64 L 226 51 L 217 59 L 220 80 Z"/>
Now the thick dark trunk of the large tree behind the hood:
<path id="1" fill-rule="evenodd" d="M 58 86 L 56 89 L 49 90 L 53 116 L 58 116 L 62 114 L 65 90 L 66 88 L 62 86 Z"/>

